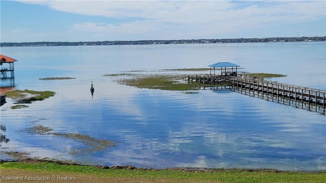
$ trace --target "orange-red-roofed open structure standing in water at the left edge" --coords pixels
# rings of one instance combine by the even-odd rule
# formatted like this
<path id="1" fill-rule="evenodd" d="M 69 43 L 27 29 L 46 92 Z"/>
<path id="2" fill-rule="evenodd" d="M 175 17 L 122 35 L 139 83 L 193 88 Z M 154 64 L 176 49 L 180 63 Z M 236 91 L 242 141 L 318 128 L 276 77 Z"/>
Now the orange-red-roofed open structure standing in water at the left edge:
<path id="1" fill-rule="evenodd" d="M 14 70 L 14 62 L 17 60 L 11 58 L 6 55 L 0 54 L 0 65 L 1 65 L 1 87 L 13 87 L 15 86 L 15 70 Z M 4 64 L 9 64 L 9 67 L 5 67 Z M 8 75 L 9 73 L 9 75 Z M 5 81 L 9 79 L 10 83 L 5 83 Z"/>

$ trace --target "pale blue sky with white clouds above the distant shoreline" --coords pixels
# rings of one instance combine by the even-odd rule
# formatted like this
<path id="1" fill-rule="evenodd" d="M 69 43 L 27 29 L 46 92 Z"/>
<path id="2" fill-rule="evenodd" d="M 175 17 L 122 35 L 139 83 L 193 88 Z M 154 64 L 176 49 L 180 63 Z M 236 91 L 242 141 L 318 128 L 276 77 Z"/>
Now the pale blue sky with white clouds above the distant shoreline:
<path id="1" fill-rule="evenodd" d="M 326 1 L 0 1 L 1 42 L 326 36 Z"/>

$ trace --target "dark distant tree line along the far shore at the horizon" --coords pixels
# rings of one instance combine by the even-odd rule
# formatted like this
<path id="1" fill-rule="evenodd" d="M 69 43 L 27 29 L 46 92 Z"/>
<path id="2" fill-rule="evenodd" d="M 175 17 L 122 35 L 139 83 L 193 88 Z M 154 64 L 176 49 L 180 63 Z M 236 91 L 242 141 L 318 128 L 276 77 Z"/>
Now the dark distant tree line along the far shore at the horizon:
<path id="1" fill-rule="evenodd" d="M 235 38 L 235 39 L 191 39 L 191 40 L 141 40 L 141 41 L 90 41 L 90 42 L 23 42 L 0 43 L 1 47 L 10 46 L 87 46 L 87 45 L 148 45 L 148 44 L 203 44 L 203 43 L 262 43 L 326 41 L 324 37 L 293 38 Z"/>

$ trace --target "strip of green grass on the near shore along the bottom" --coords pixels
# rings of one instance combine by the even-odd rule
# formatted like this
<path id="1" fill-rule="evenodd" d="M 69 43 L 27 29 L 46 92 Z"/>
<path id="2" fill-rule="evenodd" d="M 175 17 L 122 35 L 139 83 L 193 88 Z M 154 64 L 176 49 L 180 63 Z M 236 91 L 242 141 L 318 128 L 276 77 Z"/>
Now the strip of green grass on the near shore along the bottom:
<path id="1" fill-rule="evenodd" d="M 281 172 L 268 170 L 242 170 L 242 169 L 211 169 L 211 170 L 187 170 L 187 169 L 140 169 L 131 166 L 125 167 L 98 167 L 89 165 L 63 164 L 55 162 L 1 163 L 1 169 L 38 171 L 51 176 L 60 173 L 70 175 L 83 174 L 97 177 L 96 180 L 114 182 L 324 182 L 326 172 Z M 4 175 L 4 174 L 2 174 Z M 17 175 L 16 175 L 17 176 Z M 21 175 L 20 175 L 21 176 Z M 87 178 L 87 177 L 86 177 Z M 123 179 L 125 178 L 125 179 Z M 139 179 L 142 179 L 141 181 Z M 77 180 L 78 181 L 78 180 Z M 79 180 L 82 181 L 82 180 Z"/>

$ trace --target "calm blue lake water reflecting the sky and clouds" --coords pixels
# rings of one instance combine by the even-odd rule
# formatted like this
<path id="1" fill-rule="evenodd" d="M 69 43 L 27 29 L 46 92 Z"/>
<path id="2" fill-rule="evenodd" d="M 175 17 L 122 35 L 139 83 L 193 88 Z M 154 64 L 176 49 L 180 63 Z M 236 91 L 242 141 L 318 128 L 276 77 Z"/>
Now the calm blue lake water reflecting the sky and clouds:
<path id="1" fill-rule="evenodd" d="M 16 89 L 56 95 L 22 109 L 10 109 L 14 104 L 7 98 L 1 125 L 9 141 L 1 148 L 106 166 L 325 170 L 326 117 L 319 113 L 230 90 L 184 94 L 125 86 L 103 76 L 231 62 L 243 68 L 238 72 L 286 74 L 272 80 L 325 90 L 325 50 L 326 42 L 2 47 L 1 54 L 18 60 Z M 75 79 L 39 79 L 45 77 Z M 24 132 L 37 125 L 119 143 L 71 154 L 85 144 Z"/>

